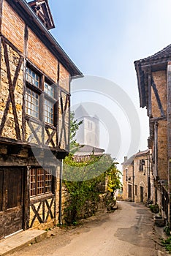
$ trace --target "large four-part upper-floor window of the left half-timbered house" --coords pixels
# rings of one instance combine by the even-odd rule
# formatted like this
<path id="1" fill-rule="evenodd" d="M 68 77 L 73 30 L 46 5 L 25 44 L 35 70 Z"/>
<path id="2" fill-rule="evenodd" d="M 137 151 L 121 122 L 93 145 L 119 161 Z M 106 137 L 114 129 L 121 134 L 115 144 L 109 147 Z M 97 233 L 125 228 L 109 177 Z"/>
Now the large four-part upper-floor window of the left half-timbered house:
<path id="1" fill-rule="evenodd" d="M 29 74 L 27 74 L 27 71 Z M 37 79 L 34 80 L 35 77 Z M 28 95 L 27 90 L 37 95 L 38 105 L 34 105 L 34 97 L 31 97 L 33 95 Z M 31 102 L 28 101 L 28 97 L 31 98 Z M 38 69 L 28 63 L 26 65 L 26 115 L 36 118 L 39 121 L 45 121 L 46 124 L 56 127 L 55 106 L 57 100 L 58 93 L 56 85 Z M 34 107 L 34 109 L 31 109 L 31 107 Z"/>

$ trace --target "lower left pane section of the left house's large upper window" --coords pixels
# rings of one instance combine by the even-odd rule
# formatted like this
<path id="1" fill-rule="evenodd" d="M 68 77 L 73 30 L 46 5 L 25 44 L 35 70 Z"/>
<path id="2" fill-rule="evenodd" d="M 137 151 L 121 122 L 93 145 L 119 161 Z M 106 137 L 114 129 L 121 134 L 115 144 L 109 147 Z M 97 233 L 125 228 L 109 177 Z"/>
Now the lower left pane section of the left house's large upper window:
<path id="1" fill-rule="evenodd" d="M 26 113 L 39 118 L 39 94 L 26 88 Z"/>

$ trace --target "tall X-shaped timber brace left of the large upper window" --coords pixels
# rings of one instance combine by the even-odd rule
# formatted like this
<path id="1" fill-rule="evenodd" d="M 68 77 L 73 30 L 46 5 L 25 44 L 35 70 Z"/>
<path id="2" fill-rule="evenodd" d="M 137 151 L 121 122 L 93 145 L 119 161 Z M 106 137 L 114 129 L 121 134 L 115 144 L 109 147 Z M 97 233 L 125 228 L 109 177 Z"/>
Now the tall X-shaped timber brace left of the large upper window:
<path id="1" fill-rule="evenodd" d="M 16 107 L 15 107 L 14 90 L 15 90 L 15 86 L 16 86 L 16 83 L 17 83 L 17 80 L 18 80 L 20 67 L 23 63 L 23 57 L 20 56 L 20 59 L 18 61 L 18 67 L 15 70 L 15 76 L 14 76 L 14 79 L 12 81 L 11 71 L 10 71 L 10 66 L 9 66 L 9 56 L 8 56 L 7 44 L 6 44 L 6 42 L 4 42 L 4 39 L 2 39 L 2 44 L 3 44 L 3 47 L 4 47 L 4 59 L 5 59 L 6 67 L 7 67 L 7 78 L 8 78 L 8 82 L 9 82 L 9 95 L 8 95 L 8 98 L 7 98 L 7 103 L 6 103 L 6 107 L 4 109 L 3 117 L 1 118 L 0 136 L 1 136 L 2 131 L 4 129 L 4 124 L 5 124 L 5 121 L 7 119 L 7 113 L 8 113 L 9 105 L 10 105 L 10 102 L 11 102 L 12 103 L 12 112 L 13 112 L 14 120 L 15 120 L 16 137 L 17 137 L 18 140 L 21 140 L 20 128 L 19 128 L 19 124 L 18 124 L 18 115 L 17 115 L 17 110 L 16 110 Z"/>

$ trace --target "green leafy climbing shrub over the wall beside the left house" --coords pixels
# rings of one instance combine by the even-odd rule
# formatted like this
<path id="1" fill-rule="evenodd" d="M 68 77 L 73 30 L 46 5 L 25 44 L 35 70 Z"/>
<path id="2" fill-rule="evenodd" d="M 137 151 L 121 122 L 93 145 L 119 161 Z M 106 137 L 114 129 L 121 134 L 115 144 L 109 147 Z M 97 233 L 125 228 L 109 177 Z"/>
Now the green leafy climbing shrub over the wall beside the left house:
<path id="1" fill-rule="evenodd" d="M 86 203 L 96 204 L 99 200 L 98 184 L 108 179 L 107 189 L 112 192 L 120 187 L 119 171 L 117 163 L 109 154 L 101 157 L 94 156 L 94 152 L 87 160 L 75 161 L 74 153 L 79 144 L 75 140 L 77 130 L 83 121 L 75 120 L 75 114 L 71 113 L 70 148 L 71 153 L 64 159 L 64 185 L 66 186 L 70 200 L 66 202 L 66 222 L 75 223 L 83 217 Z M 92 211 L 94 213 L 94 211 Z"/>

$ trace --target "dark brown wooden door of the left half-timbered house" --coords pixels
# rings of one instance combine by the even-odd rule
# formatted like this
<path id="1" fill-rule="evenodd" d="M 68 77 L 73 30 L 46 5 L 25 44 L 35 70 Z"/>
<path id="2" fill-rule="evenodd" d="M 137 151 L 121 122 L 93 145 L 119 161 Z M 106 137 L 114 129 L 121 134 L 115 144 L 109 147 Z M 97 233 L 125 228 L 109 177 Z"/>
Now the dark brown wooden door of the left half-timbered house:
<path id="1" fill-rule="evenodd" d="M 23 169 L 0 169 L 0 237 L 23 229 Z"/>

